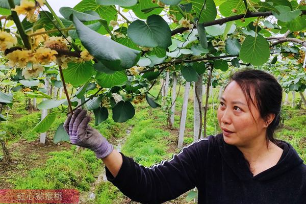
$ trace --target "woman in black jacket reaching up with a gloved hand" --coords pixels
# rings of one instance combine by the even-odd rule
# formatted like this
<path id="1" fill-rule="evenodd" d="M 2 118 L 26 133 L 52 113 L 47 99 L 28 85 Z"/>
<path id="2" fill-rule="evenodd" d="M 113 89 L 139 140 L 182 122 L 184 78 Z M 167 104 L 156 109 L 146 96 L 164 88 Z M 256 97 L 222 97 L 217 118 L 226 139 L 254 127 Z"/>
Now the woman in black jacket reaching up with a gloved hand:
<path id="1" fill-rule="evenodd" d="M 306 203 L 306 166 L 294 148 L 273 138 L 282 87 L 260 70 L 236 72 L 218 108 L 222 134 L 184 147 L 170 161 L 143 167 L 88 126 L 86 111 L 68 116 L 72 144 L 92 149 L 107 179 L 126 196 L 161 203 L 197 187 L 198 203 Z"/>

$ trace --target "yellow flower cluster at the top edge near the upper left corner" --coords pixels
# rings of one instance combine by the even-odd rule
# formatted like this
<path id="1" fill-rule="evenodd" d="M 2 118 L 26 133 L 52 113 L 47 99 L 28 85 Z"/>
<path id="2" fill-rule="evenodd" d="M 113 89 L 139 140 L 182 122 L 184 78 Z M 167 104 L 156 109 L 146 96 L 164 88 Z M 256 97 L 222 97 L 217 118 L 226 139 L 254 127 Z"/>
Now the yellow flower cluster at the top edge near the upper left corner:
<path id="1" fill-rule="evenodd" d="M 18 15 L 25 15 L 27 20 L 34 22 L 37 20 L 39 8 L 43 6 L 44 0 L 21 0 L 20 6 L 16 6 L 12 11 L 16 11 Z"/>

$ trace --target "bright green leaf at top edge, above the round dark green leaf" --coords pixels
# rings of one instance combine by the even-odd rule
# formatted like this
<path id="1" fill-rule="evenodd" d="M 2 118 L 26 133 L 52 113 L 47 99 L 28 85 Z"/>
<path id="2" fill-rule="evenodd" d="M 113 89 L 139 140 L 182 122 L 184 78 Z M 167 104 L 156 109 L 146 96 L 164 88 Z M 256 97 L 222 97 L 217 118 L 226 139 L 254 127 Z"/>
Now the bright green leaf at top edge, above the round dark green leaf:
<path id="1" fill-rule="evenodd" d="M 157 7 L 158 5 L 155 3 L 152 3 L 152 0 L 139 0 L 138 3 L 132 7 L 133 12 L 135 13 L 135 15 L 140 18 L 140 19 L 146 19 L 147 17 L 149 17 L 152 14 L 156 14 L 159 15 L 162 11 L 163 8 L 157 8 L 157 9 L 153 9 L 150 12 L 144 13 L 141 10 L 144 9 L 149 9 L 152 7 Z"/>

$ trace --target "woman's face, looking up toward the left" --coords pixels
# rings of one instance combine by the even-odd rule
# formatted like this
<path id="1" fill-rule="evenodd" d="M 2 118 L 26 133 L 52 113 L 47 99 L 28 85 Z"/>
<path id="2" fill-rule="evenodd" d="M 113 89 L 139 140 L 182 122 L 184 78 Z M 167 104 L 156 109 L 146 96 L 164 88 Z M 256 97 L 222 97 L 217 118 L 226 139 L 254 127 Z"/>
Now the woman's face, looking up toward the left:
<path id="1" fill-rule="evenodd" d="M 246 147 L 265 140 L 266 122 L 252 103 L 248 107 L 243 91 L 235 81 L 228 84 L 222 94 L 218 122 L 227 144 Z"/>

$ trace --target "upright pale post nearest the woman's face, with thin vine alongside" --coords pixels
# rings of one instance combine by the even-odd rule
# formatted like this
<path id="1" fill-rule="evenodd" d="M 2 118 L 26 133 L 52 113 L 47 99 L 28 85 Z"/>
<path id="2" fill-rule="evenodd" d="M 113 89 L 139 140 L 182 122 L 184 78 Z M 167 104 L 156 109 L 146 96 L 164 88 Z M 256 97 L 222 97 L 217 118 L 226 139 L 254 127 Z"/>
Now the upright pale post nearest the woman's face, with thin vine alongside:
<path id="1" fill-rule="evenodd" d="M 200 74 L 198 77 L 198 81 L 194 83 L 193 141 L 197 141 L 198 139 L 203 137 L 203 134 L 202 134 L 202 100 L 203 100 L 202 82 L 203 82 L 203 74 Z M 199 131 L 201 133 L 199 133 Z"/>

